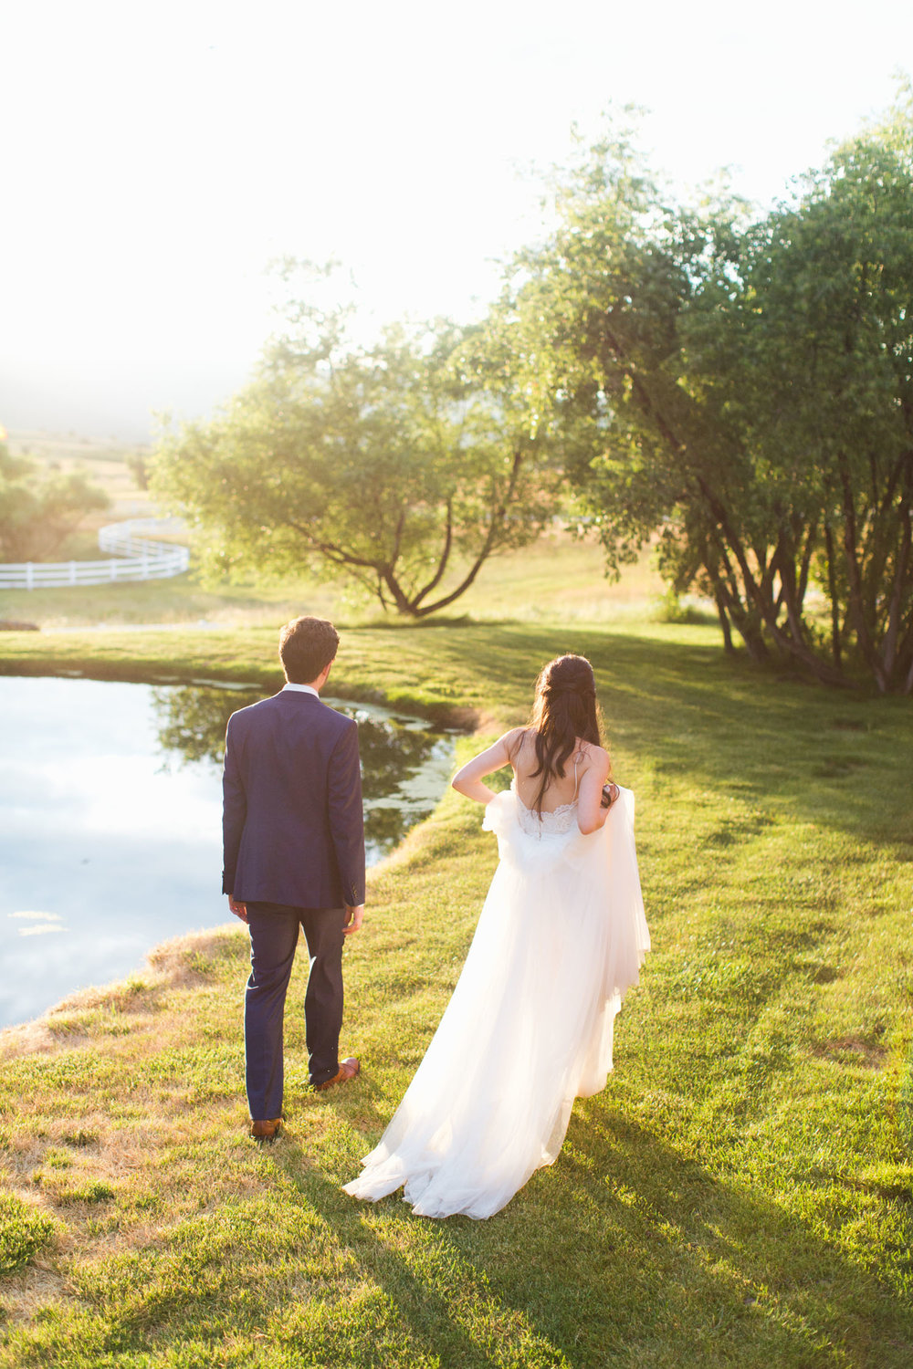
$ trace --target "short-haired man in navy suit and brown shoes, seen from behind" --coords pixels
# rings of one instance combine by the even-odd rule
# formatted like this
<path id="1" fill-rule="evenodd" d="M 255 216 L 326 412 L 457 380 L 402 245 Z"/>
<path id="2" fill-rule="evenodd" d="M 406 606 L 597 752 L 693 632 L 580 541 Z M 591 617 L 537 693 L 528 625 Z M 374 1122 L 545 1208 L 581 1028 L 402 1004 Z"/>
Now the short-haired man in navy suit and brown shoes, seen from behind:
<path id="1" fill-rule="evenodd" d="M 342 945 L 364 914 L 359 734 L 319 697 L 338 645 L 324 619 L 286 623 L 286 684 L 233 713 L 226 732 L 222 890 L 250 932 L 244 1049 L 250 1135 L 259 1140 L 272 1140 L 282 1121 L 282 1020 L 300 927 L 311 957 L 311 1083 L 342 1084 L 360 1068 L 338 1054 Z"/>

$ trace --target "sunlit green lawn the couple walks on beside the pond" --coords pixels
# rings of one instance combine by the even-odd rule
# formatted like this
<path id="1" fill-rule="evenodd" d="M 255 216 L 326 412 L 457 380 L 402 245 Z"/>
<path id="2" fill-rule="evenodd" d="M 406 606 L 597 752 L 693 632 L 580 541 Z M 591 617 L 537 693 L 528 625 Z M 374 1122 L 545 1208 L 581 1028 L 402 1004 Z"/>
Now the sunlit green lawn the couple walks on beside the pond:
<path id="1" fill-rule="evenodd" d="M 0 646 L 22 674 L 278 683 L 272 627 Z M 654 949 L 557 1164 L 486 1223 L 339 1191 L 434 1032 L 494 867 L 479 810 L 448 793 L 371 879 L 342 1038 L 364 1071 L 338 1092 L 307 1090 L 296 968 L 274 1146 L 244 1132 L 240 925 L 0 1038 L 21 1250 L 0 1364 L 913 1362 L 910 705 L 758 674 L 709 627 L 578 622 L 567 601 L 550 622 L 353 623 L 333 687 L 490 735 L 565 649 L 595 665 L 636 793 Z M 509 1068 L 505 1042 L 493 1069 Z"/>

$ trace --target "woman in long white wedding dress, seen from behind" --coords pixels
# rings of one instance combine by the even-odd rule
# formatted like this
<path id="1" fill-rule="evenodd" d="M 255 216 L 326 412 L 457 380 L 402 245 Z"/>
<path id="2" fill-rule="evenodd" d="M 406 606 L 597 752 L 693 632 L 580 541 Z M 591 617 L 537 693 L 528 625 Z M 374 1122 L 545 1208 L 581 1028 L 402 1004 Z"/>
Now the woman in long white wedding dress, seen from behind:
<path id="1" fill-rule="evenodd" d="M 496 794 L 482 780 L 506 765 Z M 345 1191 L 405 1186 L 420 1216 L 490 1217 L 557 1158 L 574 1099 L 605 1087 L 615 1014 L 650 947 L 634 795 L 610 783 L 590 663 L 550 661 L 530 726 L 453 787 L 486 805 L 500 864 L 441 1025 Z"/>

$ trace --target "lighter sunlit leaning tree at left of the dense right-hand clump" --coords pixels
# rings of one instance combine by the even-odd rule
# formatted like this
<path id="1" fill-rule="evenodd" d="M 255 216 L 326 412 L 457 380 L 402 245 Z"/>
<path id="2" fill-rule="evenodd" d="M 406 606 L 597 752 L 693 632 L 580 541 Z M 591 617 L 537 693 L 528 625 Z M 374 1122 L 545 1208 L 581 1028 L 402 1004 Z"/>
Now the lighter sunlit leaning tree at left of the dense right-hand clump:
<path id="1" fill-rule="evenodd" d="M 538 319 L 539 348 L 556 355 L 575 434 L 567 471 L 609 572 L 658 531 L 663 572 L 687 587 L 713 564 L 723 527 L 754 545 L 764 537 L 750 460 L 686 349 L 691 315 L 732 287 L 742 207 L 678 208 L 623 129 L 565 172 L 557 208 L 557 231 L 516 259 L 502 305 Z M 753 654 L 767 653 L 750 606 L 736 626 Z"/>

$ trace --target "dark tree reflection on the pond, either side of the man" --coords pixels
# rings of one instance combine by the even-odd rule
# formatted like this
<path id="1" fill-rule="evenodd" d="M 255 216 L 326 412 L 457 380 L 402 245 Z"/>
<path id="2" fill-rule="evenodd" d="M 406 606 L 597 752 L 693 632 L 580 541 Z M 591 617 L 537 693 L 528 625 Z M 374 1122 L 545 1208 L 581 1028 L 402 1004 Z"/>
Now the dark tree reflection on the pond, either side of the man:
<path id="1" fill-rule="evenodd" d="M 168 761 L 208 763 L 220 769 L 230 715 L 259 698 L 261 690 L 207 684 L 153 689 L 159 743 Z M 434 809 L 450 775 L 453 741 L 422 719 L 378 704 L 352 704 L 329 695 L 324 702 L 359 724 L 364 842 L 372 865 Z"/>

